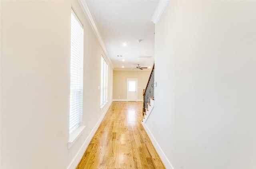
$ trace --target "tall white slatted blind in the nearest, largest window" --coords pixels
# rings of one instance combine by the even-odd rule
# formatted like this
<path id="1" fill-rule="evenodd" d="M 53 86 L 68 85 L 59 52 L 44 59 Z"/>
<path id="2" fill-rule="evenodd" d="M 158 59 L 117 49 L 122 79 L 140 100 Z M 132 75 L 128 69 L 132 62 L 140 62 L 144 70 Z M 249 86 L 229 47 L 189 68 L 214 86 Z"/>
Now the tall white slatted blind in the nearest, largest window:
<path id="1" fill-rule="evenodd" d="M 82 124 L 83 112 L 83 28 L 71 13 L 70 119 L 69 132 Z"/>

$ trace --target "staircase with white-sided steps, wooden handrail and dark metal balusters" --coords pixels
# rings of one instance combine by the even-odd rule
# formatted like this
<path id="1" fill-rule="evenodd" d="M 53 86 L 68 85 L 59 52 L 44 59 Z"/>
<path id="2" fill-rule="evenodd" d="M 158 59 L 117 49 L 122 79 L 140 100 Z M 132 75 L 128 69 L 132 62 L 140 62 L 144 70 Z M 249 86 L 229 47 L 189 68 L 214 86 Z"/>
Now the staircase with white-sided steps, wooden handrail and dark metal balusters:
<path id="1" fill-rule="evenodd" d="M 154 108 L 154 67 L 150 73 L 146 88 L 143 90 L 143 108 L 142 123 L 148 119 L 152 109 Z"/>

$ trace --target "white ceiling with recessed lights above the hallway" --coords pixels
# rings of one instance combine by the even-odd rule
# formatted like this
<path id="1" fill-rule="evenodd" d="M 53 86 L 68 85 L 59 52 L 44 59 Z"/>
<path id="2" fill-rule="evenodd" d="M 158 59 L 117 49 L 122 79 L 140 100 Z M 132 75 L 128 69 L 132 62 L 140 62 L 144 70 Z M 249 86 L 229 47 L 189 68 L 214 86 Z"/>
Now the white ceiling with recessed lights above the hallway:
<path id="1" fill-rule="evenodd" d="M 102 39 L 101 45 L 113 69 L 138 71 L 140 69 L 134 68 L 140 64 L 141 67 L 148 67 L 143 71 L 150 71 L 154 64 L 155 27 L 151 19 L 159 0 L 84 2 L 90 10 L 98 36 Z"/>

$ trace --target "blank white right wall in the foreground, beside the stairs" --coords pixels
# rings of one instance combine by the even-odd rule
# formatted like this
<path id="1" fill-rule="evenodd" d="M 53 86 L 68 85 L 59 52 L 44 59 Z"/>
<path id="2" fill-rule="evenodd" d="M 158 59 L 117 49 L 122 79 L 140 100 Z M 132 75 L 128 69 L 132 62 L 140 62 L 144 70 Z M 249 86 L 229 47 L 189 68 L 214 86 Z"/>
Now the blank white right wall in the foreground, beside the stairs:
<path id="1" fill-rule="evenodd" d="M 146 126 L 166 167 L 256 169 L 256 1 L 170 1 L 155 40 Z"/>

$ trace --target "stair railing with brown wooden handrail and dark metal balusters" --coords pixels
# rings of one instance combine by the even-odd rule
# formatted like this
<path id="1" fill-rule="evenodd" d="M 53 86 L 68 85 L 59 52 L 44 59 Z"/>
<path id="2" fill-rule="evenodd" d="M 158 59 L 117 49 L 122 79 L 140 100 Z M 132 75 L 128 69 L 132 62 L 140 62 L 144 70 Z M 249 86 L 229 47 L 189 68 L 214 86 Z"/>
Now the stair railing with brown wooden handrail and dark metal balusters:
<path id="1" fill-rule="evenodd" d="M 142 116 L 143 117 L 144 117 L 144 112 L 146 112 L 146 110 L 148 109 L 148 104 L 150 103 L 150 98 L 154 98 L 154 68 L 155 68 L 155 64 L 152 67 L 147 86 L 145 89 L 143 89 L 143 108 L 142 108 L 142 110 L 143 110 Z"/>

